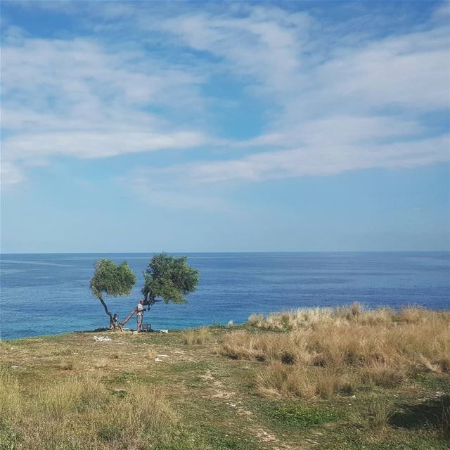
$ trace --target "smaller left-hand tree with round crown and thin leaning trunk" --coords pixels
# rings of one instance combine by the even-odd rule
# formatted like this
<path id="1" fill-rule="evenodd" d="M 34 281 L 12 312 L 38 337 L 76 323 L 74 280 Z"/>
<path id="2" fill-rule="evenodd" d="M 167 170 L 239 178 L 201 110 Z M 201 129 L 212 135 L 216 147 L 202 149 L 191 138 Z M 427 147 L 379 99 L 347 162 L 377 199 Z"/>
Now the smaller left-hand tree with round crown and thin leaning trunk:
<path id="1" fill-rule="evenodd" d="M 115 328 L 113 314 L 103 301 L 103 293 L 113 297 L 129 295 L 136 283 L 136 276 L 129 268 L 127 262 L 115 264 L 110 259 L 100 259 L 94 264 L 95 272 L 91 278 L 91 291 L 105 308 L 106 314 L 110 317 L 110 328 Z"/>

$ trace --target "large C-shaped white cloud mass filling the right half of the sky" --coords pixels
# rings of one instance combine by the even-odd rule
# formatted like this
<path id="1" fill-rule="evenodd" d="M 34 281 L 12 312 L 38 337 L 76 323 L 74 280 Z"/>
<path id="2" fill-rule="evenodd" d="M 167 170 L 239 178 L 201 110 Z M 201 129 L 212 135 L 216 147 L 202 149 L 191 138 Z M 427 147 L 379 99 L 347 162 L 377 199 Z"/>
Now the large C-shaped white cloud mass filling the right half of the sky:
<path id="1" fill-rule="evenodd" d="M 235 76 L 251 76 L 248 86 L 276 105 L 266 133 L 236 143 L 259 152 L 160 174 L 192 184 L 250 182 L 450 159 L 449 136 L 423 119 L 449 108 L 448 24 L 366 42 L 344 39 L 321 60 L 309 55 L 321 47 L 307 37 L 311 20 L 288 23 L 288 13 L 258 11 L 244 18 L 197 14 L 167 27 L 222 58 Z"/>

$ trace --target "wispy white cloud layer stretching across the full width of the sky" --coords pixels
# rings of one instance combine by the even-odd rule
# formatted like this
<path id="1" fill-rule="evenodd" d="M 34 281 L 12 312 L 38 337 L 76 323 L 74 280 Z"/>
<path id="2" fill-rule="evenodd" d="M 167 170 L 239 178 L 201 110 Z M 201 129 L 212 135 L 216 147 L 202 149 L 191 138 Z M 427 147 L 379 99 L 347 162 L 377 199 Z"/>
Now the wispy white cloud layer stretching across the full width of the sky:
<path id="1" fill-rule="evenodd" d="M 77 4 L 68 5 L 48 6 L 76 15 Z M 254 182 L 449 159 L 447 130 L 430 119 L 450 101 L 446 4 L 423 23 L 387 35 L 375 26 L 378 32 L 328 27 L 330 20 L 314 10 L 266 4 L 98 2 L 88 11 L 87 37 L 6 30 L 2 170 L 10 175 L 4 180 L 19 183 L 24 161 L 33 158 L 203 148 L 184 165 L 148 169 L 158 181 L 151 190 L 164 198 L 171 195 L 167 186 L 186 182 Z M 120 40 L 115 29 L 131 38 Z M 214 115 L 220 120 L 223 98 L 214 98 L 211 86 L 220 89 L 226 80 L 239 86 L 230 101 L 260 105 L 265 125 L 252 139 L 236 139 L 232 130 L 219 139 L 208 125 Z M 208 146 L 214 153 L 205 158 Z"/>

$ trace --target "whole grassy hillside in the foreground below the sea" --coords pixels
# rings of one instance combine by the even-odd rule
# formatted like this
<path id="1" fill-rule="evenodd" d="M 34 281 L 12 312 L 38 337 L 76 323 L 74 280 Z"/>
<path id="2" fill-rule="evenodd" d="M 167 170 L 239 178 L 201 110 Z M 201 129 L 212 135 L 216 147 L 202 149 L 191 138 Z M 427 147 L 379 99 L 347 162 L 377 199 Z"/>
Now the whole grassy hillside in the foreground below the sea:
<path id="1" fill-rule="evenodd" d="M 6 341 L 0 386 L 2 450 L 449 449 L 450 312 Z"/>

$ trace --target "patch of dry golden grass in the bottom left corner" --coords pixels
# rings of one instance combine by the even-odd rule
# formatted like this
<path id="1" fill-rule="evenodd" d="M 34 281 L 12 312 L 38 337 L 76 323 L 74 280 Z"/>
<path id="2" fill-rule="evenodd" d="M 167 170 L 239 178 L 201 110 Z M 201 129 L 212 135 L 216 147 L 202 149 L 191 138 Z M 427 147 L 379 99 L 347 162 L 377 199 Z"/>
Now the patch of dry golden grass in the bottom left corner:
<path id="1" fill-rule="evenodd" d="M 37 392 L 8 373 L 0 383 L 0 442 L 7 435 L 11 449 L 137 450 L 169 442 L 179 426 L 155 387 L 129 385 L 117 395 L 91 375 L 69 375 Z"/>

